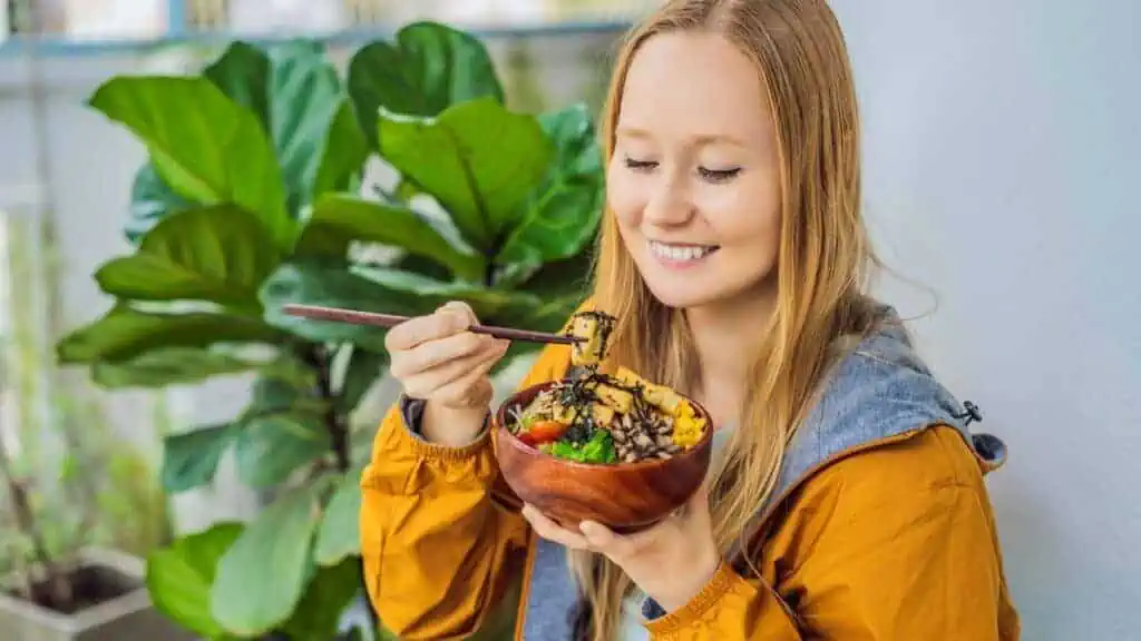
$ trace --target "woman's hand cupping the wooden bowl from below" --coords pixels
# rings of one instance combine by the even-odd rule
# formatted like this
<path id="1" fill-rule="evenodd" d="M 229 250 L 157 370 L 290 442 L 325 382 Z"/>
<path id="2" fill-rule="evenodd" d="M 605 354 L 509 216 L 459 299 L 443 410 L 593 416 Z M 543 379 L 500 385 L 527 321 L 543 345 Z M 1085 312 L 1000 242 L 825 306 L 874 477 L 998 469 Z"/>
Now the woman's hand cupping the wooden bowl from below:
<path id="1" fill-rule="evenodd" d="M 523 516 L 543 538 L 606 555 L 666 611 L 701 593 L 721 562 L 705 486 L 681 510 L 631 535 L 615 534 L 593 521 L 583 521 L 582 532 L 559 527 L 529 504 L 524 505 Z"/>

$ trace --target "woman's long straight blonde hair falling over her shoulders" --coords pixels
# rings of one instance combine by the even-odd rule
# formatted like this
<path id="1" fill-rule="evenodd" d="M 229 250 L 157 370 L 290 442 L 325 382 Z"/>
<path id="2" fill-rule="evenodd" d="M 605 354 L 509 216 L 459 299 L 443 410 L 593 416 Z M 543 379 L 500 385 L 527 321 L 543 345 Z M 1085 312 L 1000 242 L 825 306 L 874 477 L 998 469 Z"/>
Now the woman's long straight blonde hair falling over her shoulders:
<path id="1" fill-rule="evenodd" d="M 748 397 L 721 465 L 711 511 L 722 552 L 741 543 L 770 498 L 785 448 L 839 355 L 875 323 L 864 292 L 879 262 L 860 216 L 859 122 L 847 47 L 824 0 L 674 0 L 628 36 L 602 120 L 606 160 L 632 57 L 656 34 L 713 31 L 755 64 L 774 116 L 780 157 L 782 222 L 777 305 L 758 319 Z M 659 303 L 626 252 L 612 212 L 604 217 L 593 300 L 617 317 L 613 363 L 691 390 L 697 360 L 685 316 Z M 666 336 L 666 340 L 662 340 Z M 745 429 L 747 427 L 747 429 Z M 605 558 L 572 551 L 569 561 L 591 614 L 596 641 L 617 636 L 631 582 Z M 752 566 L 748 554 L 746 562 Z M 755 570 L 755 568 L 753 568 Z"/>

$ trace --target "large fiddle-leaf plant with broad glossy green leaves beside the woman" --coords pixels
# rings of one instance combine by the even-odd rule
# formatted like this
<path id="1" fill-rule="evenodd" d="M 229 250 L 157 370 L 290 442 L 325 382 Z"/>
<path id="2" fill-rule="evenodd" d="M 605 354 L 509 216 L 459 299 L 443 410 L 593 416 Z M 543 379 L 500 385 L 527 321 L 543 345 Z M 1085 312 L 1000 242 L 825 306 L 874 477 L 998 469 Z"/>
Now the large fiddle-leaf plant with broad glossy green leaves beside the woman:
<path id="1" fill-rule="evenodd" d="M 149 159 L 136 249 L 95 274 L 115 303 L 59 360 L 106 387 L 253 372 L 241 416 L 165 439 L 162 480 L 209 484 L 233 451 L 243 481 L 276 495 L 248 525 L 155 553 L 154 601 L 212 639 L 329 639 L 361 585 L 367 449 L 349 419 L 387 355 L 378 328 L 282 306 L 415 315 L 460 299 L 488 323 L 557 330 L 585 295 L 601 209 L 591 119 L 511 111 L 484 46 L 436 23 L 361 48 L 343 79 L 315 44 L 235 42 L 200 75 L 115 78 L 89 103 Z M 399 180 L 370 186 L 373 160 Z M 390 255 L 367 258 L 375 245 Z"/>

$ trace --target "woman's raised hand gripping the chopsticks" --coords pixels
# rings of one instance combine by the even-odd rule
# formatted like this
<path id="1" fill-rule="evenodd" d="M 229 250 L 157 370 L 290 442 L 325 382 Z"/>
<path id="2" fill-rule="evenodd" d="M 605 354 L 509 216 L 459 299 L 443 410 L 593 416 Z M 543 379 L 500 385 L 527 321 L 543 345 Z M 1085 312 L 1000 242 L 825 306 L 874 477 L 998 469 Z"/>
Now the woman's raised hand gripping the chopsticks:
<path id="1" fill-rule="evenodd" d="M 452 301 L 385 336 L 389 372 L 406 396 L 427 401 L 421 431 L 430 441 L 464 445 L 484 427 L 493 396 L 488 373 L 511 343 L 468 331 L 478 323 L 471 307 Z"/>

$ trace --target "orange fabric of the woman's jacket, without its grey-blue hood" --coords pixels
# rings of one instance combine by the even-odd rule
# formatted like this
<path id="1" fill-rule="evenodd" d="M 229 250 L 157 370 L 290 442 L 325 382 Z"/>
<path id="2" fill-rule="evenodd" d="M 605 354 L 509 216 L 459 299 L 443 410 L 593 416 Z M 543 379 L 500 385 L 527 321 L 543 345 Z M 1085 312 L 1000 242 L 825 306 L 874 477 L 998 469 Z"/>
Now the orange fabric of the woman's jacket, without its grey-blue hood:
<path id="1" fill-rule="evenodd" d="M 520 387 L 568 364 L 549 347 Z M 833 456 L 769 512 L 760 577 L 723 566 L 689 605 L 649 622 L 650 638 L 1017 640 L 987 470 L 942 425 Z M 535 535 L 499 480 L 487 433 L 448 448 L 411 435 L 396 407 L 383 420 L 362 478 L 362 552 L 373 607 L 400 639 L 467 638 L 520 565 L 529 571 Z"/>

